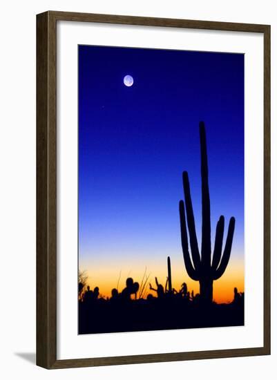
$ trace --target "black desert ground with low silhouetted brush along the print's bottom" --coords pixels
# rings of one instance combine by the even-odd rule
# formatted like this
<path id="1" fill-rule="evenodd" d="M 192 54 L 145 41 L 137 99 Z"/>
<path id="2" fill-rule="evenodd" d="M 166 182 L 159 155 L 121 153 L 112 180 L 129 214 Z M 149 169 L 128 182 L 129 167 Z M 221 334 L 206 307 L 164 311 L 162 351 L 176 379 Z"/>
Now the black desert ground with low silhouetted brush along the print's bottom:
<path id="1" fill-rule="evenodd" d="M 157 282 L 157 296 L 132 299 L 137 290 L 132 278 L 121 293 L 112 289 L 111 298 L 99 298 L 97 287 L 87 287 L 79 299 L 79 334 L 244 325 L 244 294 L 236 288 L 231 303 L 210 305 L 190 294 L 185 283 L 169 292 Z"/>

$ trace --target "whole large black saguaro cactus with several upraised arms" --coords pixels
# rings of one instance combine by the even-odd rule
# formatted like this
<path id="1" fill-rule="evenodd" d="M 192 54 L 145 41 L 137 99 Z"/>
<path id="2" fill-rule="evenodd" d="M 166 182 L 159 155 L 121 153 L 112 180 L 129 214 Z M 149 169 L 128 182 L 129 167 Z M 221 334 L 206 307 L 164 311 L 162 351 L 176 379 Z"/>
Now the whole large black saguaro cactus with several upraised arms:
<path id="1" fill-rule="evenodd" d="M 182 238 L 182 251 L 184 265 L 187 274 L 200 283 L 200 299 L 203 303 L 213 301 L 213 281 L 218 280 L 224 274 L 229 263 L 231 246 L 233 242 L 233 231 L 235 229 L 235 218 L 229 221 L 227 240 L 222 254 L 222 240 L 225 219 L 220 216 L 216 225 L 216 238 L 211 260 L 211 209 L 208 181 L 207 142 L 204 122 L 200 122 L 200 149 L 201 149 L 201 180 L 202 180 L 202 245 L 201 256 L 198 249 L 198 241 L 195 232 L 195 220 L 191 202 L 191 191 L 189 187 L 189 176 L 187 171 L 183 173 L 184 201 L 180 200 L 180 225 Z M 184 207 L 184 202 L 186 207 Z M 187 215 L 187 220 L 186 220 Z M 189 243 L 187 227 L 189 231 L 189 242 L 191 256 L 189 254 Z"/>

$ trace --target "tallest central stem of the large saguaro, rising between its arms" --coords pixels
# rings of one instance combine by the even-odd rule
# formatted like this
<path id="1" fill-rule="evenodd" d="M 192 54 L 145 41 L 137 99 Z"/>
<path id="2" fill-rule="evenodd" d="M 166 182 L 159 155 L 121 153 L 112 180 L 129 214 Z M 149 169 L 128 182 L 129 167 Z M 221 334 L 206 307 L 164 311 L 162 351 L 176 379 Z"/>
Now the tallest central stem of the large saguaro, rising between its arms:
<path id="1" fill-rule="evenodd" d="M 204 123 L 199 124 L 201 151 L 201 182 L 202 182 L 202 245 L 201 262 L 204 268 L 211 267 L 211 205 L 209 196 L 209 171 L 207 158 L 207 141 Z"/>

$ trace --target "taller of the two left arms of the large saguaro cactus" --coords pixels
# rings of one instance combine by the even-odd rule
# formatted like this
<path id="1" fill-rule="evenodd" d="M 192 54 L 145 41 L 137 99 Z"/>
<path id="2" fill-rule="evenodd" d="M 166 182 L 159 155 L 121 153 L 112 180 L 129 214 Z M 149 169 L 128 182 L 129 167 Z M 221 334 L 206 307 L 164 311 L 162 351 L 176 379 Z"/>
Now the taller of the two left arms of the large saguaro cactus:
<path id="1" fill-rule="evenodd" d="M 186 202 L 187 225 L 189 229 L 189 242 L 191 243 L 191 257 L 196 270 L 200 269 L 200 254 L 195 231 L 195 221 L 193 215 L 193 207 L 191 202 L 191 190 L 189 187 L 189 176 L 187 171 L 183 173 L 184 200 Z M 187 227 L 186 227 L 187 228 Z M 187 230 L 186 230 L 187 233 Z"/>

